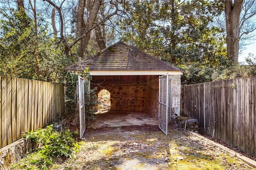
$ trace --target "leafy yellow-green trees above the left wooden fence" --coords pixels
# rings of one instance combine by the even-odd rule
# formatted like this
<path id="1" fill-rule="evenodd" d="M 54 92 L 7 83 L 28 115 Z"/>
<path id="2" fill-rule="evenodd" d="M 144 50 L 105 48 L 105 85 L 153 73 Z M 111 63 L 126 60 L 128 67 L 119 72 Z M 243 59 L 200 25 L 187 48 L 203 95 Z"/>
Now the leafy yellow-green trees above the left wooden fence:
<path id="1" fill-rule="evenodd" d="M 0 75 L 63 81 L 68 64 L 62 52 L 64 48 L 48 34 L 48 23 L 43 18 L 38 20 L 36 4 L 28 3 L 32 7 L 31 18 L 23 7 L 15 9 L 7 4 L 0 8 Z"/>

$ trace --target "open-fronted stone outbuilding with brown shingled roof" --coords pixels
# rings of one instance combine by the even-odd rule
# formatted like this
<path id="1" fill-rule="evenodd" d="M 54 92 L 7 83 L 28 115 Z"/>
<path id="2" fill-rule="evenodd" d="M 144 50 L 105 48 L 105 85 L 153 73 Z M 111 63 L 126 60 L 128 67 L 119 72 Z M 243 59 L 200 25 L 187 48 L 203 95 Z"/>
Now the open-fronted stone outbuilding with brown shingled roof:
<path id="1" fill-rule="evenodd" d="M 180 115 L 180 69 L 122 41 L 75 63 L 69 70 L 83 71 L 87 67 L 92 75 L 90 88 L 98 87 L 97 93 L 102 89 L 110 92 L 110 111 L 144 112 L 156 119 L 159 110 L 165 113 L 168 109 L 169 119 Z M 165 79 L 162 84 L 161 79 Z"/>

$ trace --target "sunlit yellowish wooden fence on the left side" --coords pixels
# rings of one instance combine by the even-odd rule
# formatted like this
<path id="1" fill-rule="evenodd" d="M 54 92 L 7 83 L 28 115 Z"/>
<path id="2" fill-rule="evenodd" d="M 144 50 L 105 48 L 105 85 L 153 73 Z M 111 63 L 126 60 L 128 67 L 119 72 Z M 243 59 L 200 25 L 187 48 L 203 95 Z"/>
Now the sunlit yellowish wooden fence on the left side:
<path id="1" fill-rule="evenodd" d="M 0 148 L 64 114 L 61 83 L 0 77 Z"/>

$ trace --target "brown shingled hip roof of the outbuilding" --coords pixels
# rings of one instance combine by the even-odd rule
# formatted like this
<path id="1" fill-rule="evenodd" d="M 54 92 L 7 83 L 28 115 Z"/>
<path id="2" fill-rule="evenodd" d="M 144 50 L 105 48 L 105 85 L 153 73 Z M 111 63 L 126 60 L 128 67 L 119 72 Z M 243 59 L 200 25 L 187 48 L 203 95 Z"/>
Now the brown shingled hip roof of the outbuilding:
<path id="1" fill-rule="evenodd" d="M 68 67 L 70 71 L 180 71 L 176 67 L 122 41 Z"/>

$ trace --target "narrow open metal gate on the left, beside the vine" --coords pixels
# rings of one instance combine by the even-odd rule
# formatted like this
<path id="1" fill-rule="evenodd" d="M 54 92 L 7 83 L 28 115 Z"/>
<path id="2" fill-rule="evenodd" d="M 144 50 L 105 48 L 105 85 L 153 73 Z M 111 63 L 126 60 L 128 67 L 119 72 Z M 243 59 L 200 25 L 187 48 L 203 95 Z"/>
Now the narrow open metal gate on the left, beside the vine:
<path id="1" fill-rule="evenodd" d="M 79 110 L 79 125 L 80 125 L 80 139 L 84 135 L 85 131 L 85 117 L 84 117 L 84 79 L 78 75 L 78 81 L 76 82 L 77 91 L 77 104 Z"/>

